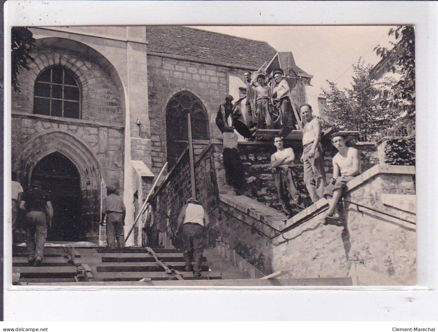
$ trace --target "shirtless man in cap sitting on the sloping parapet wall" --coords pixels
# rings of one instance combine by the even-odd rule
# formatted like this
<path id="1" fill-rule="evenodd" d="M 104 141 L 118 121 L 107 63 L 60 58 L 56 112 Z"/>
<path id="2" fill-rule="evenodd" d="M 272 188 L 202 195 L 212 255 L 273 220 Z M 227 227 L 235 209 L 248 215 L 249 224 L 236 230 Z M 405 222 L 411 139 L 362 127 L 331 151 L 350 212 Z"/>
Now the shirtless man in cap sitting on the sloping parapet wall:
<path id="1" fill-rule="evenodd" d="M 346 137 L 342 133 L 336 132 L 332 135 L 332 144 L 339 152 L 333 157 L 332 181 L 324 189 L 324 196 L 326 198 L 332 197 L 329 210 L 325 215 L 326 223 L 342 222 L 336 209 L 337 203 L 346 188 L 346 183 L 360 173 L 359 151 L 346 146 L 345 141 Z M 339 171 L 341 172 L 340 176 Z M 337 216 L 335 216 L 335 213 Z"/>

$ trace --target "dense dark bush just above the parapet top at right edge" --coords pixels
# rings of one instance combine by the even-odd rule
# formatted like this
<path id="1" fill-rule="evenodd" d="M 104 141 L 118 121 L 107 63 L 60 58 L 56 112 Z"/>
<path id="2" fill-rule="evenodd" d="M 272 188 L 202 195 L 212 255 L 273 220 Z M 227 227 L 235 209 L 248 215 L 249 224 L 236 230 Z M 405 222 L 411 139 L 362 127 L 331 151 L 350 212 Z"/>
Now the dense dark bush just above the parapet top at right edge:
<path id="1" fill-rule="evenodd" d="M 385 164 L 415 166 L 415 137 L 388 139 Z"/>

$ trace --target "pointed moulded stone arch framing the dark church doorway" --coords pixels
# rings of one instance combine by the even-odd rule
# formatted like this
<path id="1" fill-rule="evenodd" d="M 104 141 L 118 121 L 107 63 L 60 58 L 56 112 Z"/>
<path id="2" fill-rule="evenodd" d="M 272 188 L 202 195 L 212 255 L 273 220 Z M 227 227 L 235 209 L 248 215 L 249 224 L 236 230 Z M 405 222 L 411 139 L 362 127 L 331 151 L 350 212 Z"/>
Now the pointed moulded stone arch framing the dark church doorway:
<path id="1" fill-rule="evenodd" d="M 54 130 L 33 136 L 23 145 L 13 169 L 23 186 L 27 186 L 35 166 L 45 157 L 59 153 L 66 157 L 79 174 L 81 191 L 81 225 L 83 238 L 98 241 L 101 210 L 102 167 L 86 143 L 68 132 Z"/>

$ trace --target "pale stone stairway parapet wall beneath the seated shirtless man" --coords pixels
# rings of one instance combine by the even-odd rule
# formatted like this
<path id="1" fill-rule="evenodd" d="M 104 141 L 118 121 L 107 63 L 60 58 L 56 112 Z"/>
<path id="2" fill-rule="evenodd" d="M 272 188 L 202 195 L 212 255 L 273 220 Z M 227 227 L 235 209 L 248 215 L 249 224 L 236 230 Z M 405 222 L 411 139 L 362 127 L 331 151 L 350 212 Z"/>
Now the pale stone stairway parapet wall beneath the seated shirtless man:
<path id="1" fill-rule="evenodd" d="M 408 167 L 375 166 L 349 185 L 347 201 L 393 217 L 364 207 L 358 210 L 345 202 L 344 224 L 325 225 L 323 212 L 328 203 L 323 199 L 286 223 L 263 226 L 251 213 L 221 203 L 213 213 L 215 227 L 231 249 L 264 273 L 290 271 L 290 278 L 356 275 L 362 285 L 413 285 L 415 215 L 386 206 L 381 200 L 381 194 L 415 194 L 412 171 Z"/>

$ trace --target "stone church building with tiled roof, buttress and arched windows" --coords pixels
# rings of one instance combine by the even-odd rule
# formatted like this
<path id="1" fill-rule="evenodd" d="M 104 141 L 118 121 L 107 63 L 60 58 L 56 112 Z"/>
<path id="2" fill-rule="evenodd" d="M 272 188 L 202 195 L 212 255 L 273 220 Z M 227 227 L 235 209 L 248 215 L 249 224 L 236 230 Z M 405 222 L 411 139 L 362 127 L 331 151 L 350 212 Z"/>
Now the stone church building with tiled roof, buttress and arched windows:
<path id="1" fill-rule="evenodd" d="M 35 60 L 12 93 L 12 170 L 51 193 L 53 241 L 98 243 L 108 184 L 124 197 L 129 229 L 154 177 L 184 151 L 187 113 L 194 140 L 220 137 L 224 96 L 237 99 L 244 71 L 276 55 L 265 42 L 181 26 L 30 30 Z M 299 105 L 312 76 L 297 76 Z"/>

